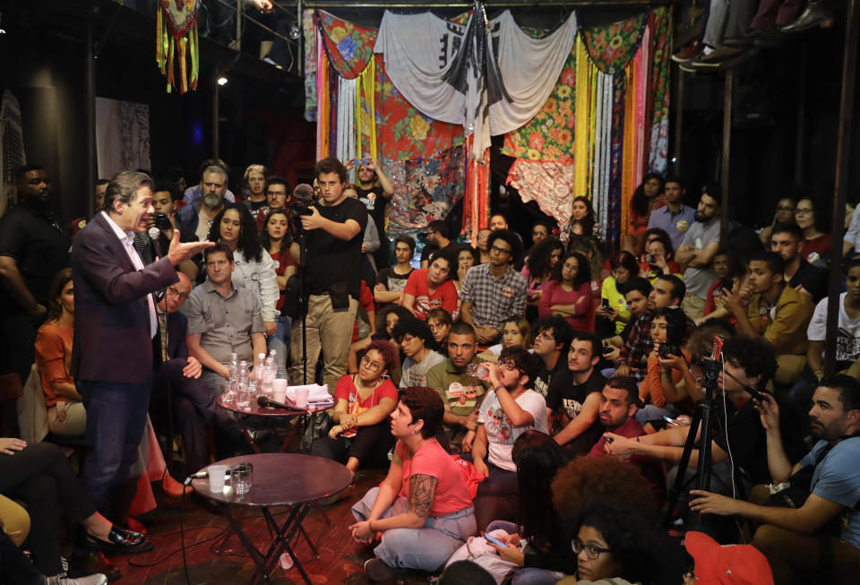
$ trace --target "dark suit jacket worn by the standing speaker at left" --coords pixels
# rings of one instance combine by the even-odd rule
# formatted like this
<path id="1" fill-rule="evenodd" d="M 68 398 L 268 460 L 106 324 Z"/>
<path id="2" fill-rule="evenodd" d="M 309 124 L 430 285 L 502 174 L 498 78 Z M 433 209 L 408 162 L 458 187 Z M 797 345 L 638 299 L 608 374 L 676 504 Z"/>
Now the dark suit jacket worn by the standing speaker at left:
<path id="1" fill-rule="evenodd" d="M 74 237 L 72 273 L 72 375 L 90 382 L 143 382 L 152 372 L 146 297 L 179 280 L 176 270 L 167 258 L 134 270 L 122 242 L 99 213 Z"/>

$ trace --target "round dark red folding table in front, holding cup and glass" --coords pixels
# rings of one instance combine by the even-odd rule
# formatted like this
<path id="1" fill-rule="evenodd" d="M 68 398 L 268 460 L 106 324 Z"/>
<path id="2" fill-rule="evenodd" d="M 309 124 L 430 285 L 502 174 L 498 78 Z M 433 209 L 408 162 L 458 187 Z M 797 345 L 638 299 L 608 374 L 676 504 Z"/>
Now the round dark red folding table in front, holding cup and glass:
<path id="1" fill-rule="evenodd" d="M 316 546 L 302 528 L 302 520 L 315 502 L 346 489 L 352 483 L 352 471 L 337 461 L 297 453 L 245 455 L 218 461 L 212 465 L 232 467 L 239 463 L 251 463 L 254 466 L 252 485 L 247 494 L 236 495 L 232 489 L 228 490 L 228 494 L 212 492 L 209 489 L 208 478 L 194 479 L 194 490 L 200 495 L 223 504 L 230 527 L 257 567 L 249 582 L 254 583 L 258 577 L 263 581 L 269 581 L 281 553 L 286 551 L 298 572 L 301 573 L 302 579 L 307 585 L 311 585 L 305 568 L 298 562 L 293 547 L 290 546 L 290 541 L 297 536 L 297 533 L 303 534 L 307 544 L 314 551 L 314 556 L 319 556 Z M 206 468 L 207 471 L 209 469 Z M 254 546 L 245 534 L 241 519 L 236 518 L 231 512 L 234 506 L 251 506 L 262 510 L 266 523 L 275 535 L 265 554 Z M 269 512 L 271 506 L 291 508 L 282 526 L 278 525 L 278 521 Z"/>

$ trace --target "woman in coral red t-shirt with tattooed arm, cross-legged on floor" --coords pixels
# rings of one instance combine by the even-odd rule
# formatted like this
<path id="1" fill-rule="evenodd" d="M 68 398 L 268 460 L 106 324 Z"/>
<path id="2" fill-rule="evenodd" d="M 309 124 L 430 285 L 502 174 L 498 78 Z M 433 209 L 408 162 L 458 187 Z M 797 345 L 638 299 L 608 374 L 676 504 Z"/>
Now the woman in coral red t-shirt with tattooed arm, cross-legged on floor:
<path id="1" fill-rule="evenodd" d="M 365 563 L 372 581 L 405 569 L 435 571 L 477 530 L 460 465 L 434 438 L 444 413 L 436 391 L 409 386 L 391 414 L 398 441 L 388 476 L 352 507 L 357 522 L 349 527 L 360 543 L 383 533 L 378 558 Z"/>

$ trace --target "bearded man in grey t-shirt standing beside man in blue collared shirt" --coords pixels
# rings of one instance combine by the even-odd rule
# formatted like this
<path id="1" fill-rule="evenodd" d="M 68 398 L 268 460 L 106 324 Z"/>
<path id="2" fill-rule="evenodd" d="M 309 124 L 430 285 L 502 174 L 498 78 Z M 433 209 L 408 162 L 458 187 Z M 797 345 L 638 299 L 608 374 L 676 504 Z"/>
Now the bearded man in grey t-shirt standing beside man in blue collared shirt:
<path id="1" fill-rule="evenodd" d="M 719 187 L 706 186 L 696 209 L 695 221 L 675 252 L 675 262 L 685 267 L 687 294 L 681 308 L 693 321 L 701 319 L 704 314 L 708 288 L 717 278 L 711 263 L 719 248 L 719 228 Z"/>

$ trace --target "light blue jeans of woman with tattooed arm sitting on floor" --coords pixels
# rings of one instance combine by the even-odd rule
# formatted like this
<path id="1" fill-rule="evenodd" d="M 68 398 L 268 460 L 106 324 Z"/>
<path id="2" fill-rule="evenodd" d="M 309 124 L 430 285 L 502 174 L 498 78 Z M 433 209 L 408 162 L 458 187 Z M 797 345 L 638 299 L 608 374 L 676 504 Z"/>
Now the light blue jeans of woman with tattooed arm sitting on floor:
<path id="1" fill-rule="evenodd" d="M 365 497 L 352 506 L 356 520 L 367 520 L 374 507 L 379 487 L 372 487 Z M 402 495 L 383 513 L 382 518 L 409 512 L 409 501 Z M 419 529 L 389 529 L 374 553 L 383 563 L 403 569 L 434 572 L 451 558 L 466 538 L 476 531 L 475 511 L 469 506 L 438 518 L 428 517 Z"/>

